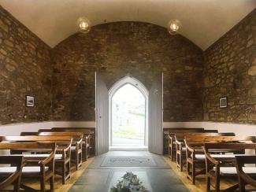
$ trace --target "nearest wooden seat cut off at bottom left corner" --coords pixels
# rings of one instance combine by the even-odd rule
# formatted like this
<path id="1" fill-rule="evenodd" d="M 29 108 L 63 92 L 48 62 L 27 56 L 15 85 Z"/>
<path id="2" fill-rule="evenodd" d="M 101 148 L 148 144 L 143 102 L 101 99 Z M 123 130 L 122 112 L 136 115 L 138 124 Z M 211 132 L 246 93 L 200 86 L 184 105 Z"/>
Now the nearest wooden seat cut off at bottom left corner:
<path id="1" fill-rule="evenodd" d="M 13 185 L 13 191 L 20 191 L 20 178 L 24 166 L 24 158 L 22 156 L 0 156 L 0 164 L 12 164 L 15 166 L 10 174 L 5 173 L 6 167 L 0 167 L 0 189 Z"/>

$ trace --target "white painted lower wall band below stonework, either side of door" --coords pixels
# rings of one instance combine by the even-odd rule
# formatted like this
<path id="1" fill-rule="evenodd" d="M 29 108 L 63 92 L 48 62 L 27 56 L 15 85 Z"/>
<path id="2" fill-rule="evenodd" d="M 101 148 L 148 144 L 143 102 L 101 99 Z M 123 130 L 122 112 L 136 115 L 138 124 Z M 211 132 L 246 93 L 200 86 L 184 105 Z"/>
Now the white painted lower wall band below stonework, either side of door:
<path id="1" fill-rule="evenodd" d="M 164 127 L 204 127 L 219 132 L 234 132 L 238 136 L 256 135 L 256 125 L 214 122 L 164 122 Z M 95 121 L 47 121 L 29 124 L 0 125 L 0 135 L 20 135 L 22 131 L 38 131 L 51 127 L 95 127 Z"/>

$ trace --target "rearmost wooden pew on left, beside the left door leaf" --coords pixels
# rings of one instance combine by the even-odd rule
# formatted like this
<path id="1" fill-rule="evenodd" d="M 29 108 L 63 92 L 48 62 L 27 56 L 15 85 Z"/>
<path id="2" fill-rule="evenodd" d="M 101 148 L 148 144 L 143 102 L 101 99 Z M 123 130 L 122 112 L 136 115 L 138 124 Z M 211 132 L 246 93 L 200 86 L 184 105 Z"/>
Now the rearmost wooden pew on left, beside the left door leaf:
<path id="1" fill-rule="evenodd" d="M 83 132 L 83 160 L 87 161 L 90 154 L 95 154 L 95 128 L 52 127 L 52 131 Z"/>

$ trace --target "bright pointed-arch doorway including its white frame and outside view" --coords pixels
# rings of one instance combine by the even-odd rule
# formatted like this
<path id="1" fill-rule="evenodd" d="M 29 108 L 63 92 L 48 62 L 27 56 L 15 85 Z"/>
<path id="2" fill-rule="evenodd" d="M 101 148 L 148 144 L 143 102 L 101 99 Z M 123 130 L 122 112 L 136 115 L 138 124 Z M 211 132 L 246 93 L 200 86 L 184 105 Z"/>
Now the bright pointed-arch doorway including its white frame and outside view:
<path id="1" fill-rule="evenodd" d="M 147 150 L 148 90 L 126 76 L 109 90 L 109 150 Z"/>

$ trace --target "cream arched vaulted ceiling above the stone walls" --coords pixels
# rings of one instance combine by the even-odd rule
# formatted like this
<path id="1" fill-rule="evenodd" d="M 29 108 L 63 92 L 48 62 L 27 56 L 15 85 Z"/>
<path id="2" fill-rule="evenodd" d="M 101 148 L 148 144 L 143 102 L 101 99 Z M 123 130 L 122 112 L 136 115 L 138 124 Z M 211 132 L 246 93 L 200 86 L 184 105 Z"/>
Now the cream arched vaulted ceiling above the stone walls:
<path id="1" fill-rule="evenodd" d="M 76 32 L 76 20 L 93 25 L 142 21 L 166 27 L 181 21 L 180 34 L 206 50 L 256 7 L 256 0 L 0 0 L 35 35 L 51 47 Z"/>

